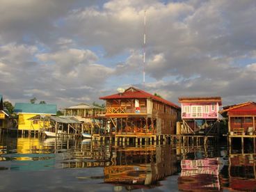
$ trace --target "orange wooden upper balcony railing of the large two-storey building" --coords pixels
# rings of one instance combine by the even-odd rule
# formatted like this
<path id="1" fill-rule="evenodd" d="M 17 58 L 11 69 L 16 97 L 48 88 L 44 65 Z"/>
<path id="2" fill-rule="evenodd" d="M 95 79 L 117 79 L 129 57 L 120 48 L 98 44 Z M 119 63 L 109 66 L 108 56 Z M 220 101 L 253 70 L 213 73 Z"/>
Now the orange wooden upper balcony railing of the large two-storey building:
<path id="1" fill-rule="evenodd" d="M 125 113 L 147 113 L 147 108 L 143 107 L 143 108 L 131 108 L 131 109 L 127 109 L 127 107 L 122 107 L 122 106 L 118 106 L 118 107 L 106 107 L 106 113 L 116 113 L 116 114 L 125 114 Z"/>

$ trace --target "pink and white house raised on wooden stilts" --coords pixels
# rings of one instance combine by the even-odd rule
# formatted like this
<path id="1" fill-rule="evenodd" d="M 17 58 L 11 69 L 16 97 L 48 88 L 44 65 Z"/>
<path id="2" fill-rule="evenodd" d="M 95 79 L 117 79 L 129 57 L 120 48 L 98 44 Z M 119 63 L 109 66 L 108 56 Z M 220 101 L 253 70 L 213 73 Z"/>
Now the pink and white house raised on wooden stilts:
<path id="1" fill-rule="evenodd" d="M 179 97 L 182 125 L 177 134 L 217 134 L 221 97 Z"/>

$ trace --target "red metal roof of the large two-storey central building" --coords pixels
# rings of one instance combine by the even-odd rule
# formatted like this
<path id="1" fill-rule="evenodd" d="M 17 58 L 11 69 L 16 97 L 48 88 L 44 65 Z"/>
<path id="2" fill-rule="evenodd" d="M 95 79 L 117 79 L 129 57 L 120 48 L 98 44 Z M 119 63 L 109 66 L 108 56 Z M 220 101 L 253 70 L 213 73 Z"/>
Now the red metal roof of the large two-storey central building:
<path id="1" fill-rule="evenodd" d="M 179 106 L 177 106 L 176 104 L 173 104 L 172 102 L 167 101 L 166 99 L 157 97 L 155 95 L 145 92 L 144 90 L 140 90 L 140 89 L 134 88 L 134 87 L 127 88 L 127 90 L 125 90 L 124 93 L 116 93 L 116 94 L 108 95 L 105 97 L 99 97 L 99 99 L 104 99 L 104 100 L 107 100 L 107 99 L 147 99 L 147 98 L 150 98 L 155 101 L 162 102 L 169 106 L 173 106 L 177 109 L 180 109 Z"/>

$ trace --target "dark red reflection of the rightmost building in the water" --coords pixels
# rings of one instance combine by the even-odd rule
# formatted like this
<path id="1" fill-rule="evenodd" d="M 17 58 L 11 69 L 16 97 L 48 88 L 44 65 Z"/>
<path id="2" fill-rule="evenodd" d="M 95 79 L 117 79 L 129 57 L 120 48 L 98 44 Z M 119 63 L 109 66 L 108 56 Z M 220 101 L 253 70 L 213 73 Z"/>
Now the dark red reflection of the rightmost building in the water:
<path id="1" fill-rule="evenodd" d="M 228 189 L 256 191 L 256 154 L 231 154 Z"/>

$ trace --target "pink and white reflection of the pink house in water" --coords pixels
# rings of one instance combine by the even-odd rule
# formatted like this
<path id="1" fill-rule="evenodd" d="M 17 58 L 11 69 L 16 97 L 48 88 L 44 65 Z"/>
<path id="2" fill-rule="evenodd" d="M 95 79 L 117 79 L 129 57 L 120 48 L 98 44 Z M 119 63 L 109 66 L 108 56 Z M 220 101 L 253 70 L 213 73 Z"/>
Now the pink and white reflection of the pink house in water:
<path id="1" fill-rule="evenodd" d="M 182 191 L 219 191 L 218 158 L 181 161 L 182 173 L 178 179 Z"/>

